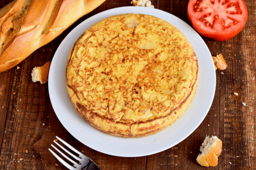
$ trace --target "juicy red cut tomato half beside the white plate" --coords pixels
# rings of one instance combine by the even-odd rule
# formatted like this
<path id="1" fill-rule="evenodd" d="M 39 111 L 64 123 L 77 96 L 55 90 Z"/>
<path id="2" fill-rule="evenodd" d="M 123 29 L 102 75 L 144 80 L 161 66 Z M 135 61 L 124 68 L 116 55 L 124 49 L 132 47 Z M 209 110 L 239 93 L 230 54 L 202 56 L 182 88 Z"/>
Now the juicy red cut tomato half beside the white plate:
<path id="1" fill-rule="evenodd" d="M 243 0 L 190 0 L 187 15 L 202 36 L 224 41 L 243 29 L 248 11 Z"/>

